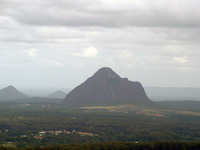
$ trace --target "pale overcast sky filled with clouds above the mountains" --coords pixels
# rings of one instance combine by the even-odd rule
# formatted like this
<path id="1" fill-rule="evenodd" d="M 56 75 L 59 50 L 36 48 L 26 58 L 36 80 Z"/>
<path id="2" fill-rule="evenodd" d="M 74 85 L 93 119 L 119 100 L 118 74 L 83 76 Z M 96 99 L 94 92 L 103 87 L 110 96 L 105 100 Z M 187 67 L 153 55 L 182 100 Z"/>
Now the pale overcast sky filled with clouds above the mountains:
<path id="1" fill-rule="evenodd" d="M 0 0 L 0 87 L 74 88 L 99 68 L 200 87 L 199 0 Z"/>

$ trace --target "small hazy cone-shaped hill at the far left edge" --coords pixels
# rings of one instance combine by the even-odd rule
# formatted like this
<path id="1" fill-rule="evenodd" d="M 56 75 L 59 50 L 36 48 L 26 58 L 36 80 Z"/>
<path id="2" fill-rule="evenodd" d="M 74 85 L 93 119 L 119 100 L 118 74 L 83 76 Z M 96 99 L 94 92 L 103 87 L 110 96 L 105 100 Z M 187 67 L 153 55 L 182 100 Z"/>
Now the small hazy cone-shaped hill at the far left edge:
<path id="1" fill-rule="evenodd" d="M 0 100 L 13 100 L 13 99 L 21 99 L 27 98 L 28 96 L 18 91 L 13 86 L 8 86 L 4 89 L 0 90 Z"/>

